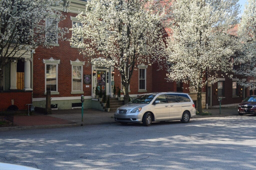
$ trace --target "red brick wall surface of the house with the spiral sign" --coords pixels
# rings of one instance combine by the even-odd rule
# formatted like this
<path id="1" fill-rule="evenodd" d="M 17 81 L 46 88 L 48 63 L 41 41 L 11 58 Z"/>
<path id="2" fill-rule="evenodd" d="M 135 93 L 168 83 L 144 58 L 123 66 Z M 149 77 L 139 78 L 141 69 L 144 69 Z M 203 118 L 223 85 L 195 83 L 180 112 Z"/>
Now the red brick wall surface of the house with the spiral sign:
<path id="1" fill-rule="evenodd" d="M 72 27 L 72 21 L 70 16 L 75 17 L 77 14 L 73 13 L 63 13 L 67 15 L 64 21 L 59 23 L 59 27 Z M 72 31 L 66 34 L 67 39 L 71 38 Z M 59 46 L 52 46 L 51 49 L 46 49 L 38 47 L 33 58 L 33 91 L 35 93 L 45 92 L 45 64 L 43 59 L 50 59 L 51 57 L 55 60 L 60 60 L 58 64 L 58 92 L 59 95 L 51 95 L 51 97 L 68 97 L 68 96 L 78 96 L 77 94 L 70 94 L 72 88 L 72 65 L 71 61 L 79 59 L 80 61 L 85 61 L 83 65 L 83 74 L 91 74 L 91 64 L 88 64 L 88 59 L 84 59 L 82 55 L 79 54 L 77 48 L 71 48 L 69 41 L 58 41 Z M 114 75 L 115 87 L 121 88 L 121 76 L 120 72 L 115 69 Z M 138 69 L 133 72 L 130 84 L 130 94 L 142 94 L 138 92 Z M 86 88 L 89 85 L 89 88 Z M 147 92 L 152 92 L 152 66 L 148 66 L 146 69 L 146 90 Z M 91 84 L 83 84 L 83 91 L 85 96 L 91 96 Z"/>

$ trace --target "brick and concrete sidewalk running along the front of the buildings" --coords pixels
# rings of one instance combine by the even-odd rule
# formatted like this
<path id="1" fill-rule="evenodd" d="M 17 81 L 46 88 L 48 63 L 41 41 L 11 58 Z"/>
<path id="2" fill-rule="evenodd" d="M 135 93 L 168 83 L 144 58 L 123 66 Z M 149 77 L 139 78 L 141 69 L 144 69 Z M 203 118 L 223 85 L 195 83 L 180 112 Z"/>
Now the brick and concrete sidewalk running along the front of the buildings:
<path id="1" fill-rule="evenodd" d="M 218 116 L 238 116 L 237 108 L 203 109 L 211 112 L 211 116 L 195 116 L 194 118 L 218 117 Z M 114 112 L 104 112 L 97 109 L 84 109 L 83 121 L 81 109 L 52 110 L 51 115 L 33 113 L 31 116 L 14 116 L 14 125 L 11 127 L 0 127 L 0 131 L 25 130 L 25 129 L 45 129 L 59 127 L 86 126 L 93 124 L 117 123 L 114 121 Z"/>

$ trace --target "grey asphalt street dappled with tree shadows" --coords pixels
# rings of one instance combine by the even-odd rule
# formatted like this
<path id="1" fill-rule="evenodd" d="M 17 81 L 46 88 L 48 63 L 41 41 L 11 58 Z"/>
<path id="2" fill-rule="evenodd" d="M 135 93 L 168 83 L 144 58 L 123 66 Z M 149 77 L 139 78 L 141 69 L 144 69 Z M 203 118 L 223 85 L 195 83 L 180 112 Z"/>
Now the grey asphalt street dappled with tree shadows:
<path id="1" fill-rule="evenodd" d="M 42 170 L 256 169 L 256 116 L 0 132 L 0 162 Z"/>

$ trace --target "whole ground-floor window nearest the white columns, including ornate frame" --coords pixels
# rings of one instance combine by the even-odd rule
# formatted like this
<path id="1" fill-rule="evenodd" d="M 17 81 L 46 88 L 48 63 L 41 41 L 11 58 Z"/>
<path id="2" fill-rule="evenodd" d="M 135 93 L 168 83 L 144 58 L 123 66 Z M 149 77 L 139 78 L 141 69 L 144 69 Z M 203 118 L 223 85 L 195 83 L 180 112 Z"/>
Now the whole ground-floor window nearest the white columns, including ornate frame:
<path id="1" fill-rule="evenodd" d="M 43 59 L 45 64 L 45 92 L 51 91 L 51 94 L 59 94 L 58 92 L 58 64 L 60 60 L 52 57 L 49 60 Z"/>

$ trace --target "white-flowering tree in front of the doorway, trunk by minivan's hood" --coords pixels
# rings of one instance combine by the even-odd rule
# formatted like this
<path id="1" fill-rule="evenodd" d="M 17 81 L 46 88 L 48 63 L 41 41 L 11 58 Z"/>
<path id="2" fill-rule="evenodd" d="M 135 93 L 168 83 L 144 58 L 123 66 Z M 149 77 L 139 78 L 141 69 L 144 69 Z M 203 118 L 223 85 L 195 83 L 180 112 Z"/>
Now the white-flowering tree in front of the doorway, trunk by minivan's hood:
<path id="1" fill-rule="evenodd" d="M 119 70 L 125 103 L 136 67 L 161 60 L 165 48 L 161 24 L 168 17 L 165 5 L 168 8 L 168 2 L 161 0 L 93 0 L 77 16 L 83 27 L 72 29 L 71 44 L 92 64 Z"/>

